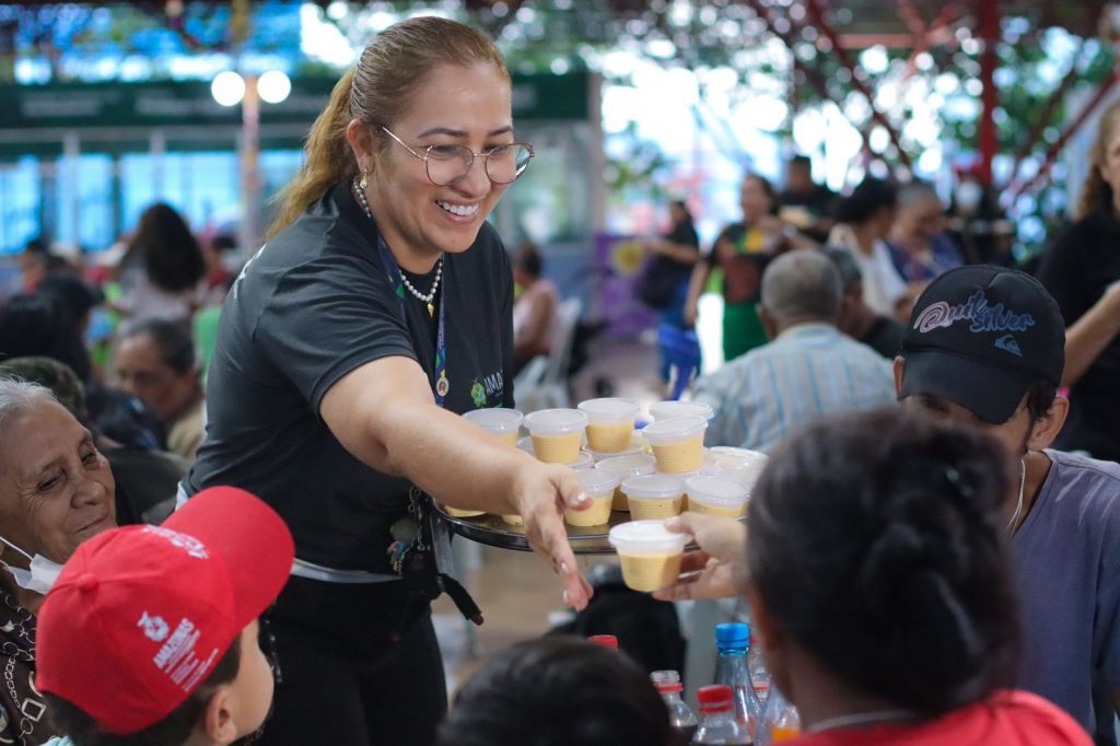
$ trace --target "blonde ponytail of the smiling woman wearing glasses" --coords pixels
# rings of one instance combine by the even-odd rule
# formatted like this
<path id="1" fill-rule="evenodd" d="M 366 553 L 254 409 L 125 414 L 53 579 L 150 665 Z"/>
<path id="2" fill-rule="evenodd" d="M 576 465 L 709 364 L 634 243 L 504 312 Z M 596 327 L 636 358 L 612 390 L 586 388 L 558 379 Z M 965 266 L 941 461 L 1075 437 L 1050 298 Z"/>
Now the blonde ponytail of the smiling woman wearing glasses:
<path id="1" fill-rule="evenodd" d="M 349 105 L 353 84 L 354 68 L 351 68 L 335 84 L 330 102 L 311 125 L 304 148 L 306 158 L 302 168 L 292 183 L 276 196 L 280 206 L 269 229 L 269 239 L 295 223 L 307 206 L 332 186 L 357 174 L 357 162 L 346 140 L 346 127 L 353 119 Z"/>

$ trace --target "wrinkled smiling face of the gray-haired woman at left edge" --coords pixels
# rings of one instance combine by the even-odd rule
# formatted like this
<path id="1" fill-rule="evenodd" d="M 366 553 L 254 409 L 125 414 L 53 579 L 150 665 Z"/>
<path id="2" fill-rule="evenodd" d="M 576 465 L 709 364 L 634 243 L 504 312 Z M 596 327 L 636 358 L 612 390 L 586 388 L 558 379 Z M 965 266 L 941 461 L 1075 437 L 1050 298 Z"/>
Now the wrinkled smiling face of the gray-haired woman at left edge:
<path id="1" fill-rule="evenodd" d="M 0 426 L 0 533 L 28 554 L 62 563 L 115 526 L 114 491 L 109 461 L 62 405 L 38 404 Z M 27 567 L 10 549 L 3 558 Z"/>

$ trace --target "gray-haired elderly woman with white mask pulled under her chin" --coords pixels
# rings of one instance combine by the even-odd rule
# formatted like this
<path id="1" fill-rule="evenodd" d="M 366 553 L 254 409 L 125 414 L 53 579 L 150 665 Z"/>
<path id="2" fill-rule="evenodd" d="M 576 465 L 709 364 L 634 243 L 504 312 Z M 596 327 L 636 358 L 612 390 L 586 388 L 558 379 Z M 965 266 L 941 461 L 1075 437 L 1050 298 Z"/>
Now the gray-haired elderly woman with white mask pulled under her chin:
<path id="1" fill-rule="evenodd" d="M 0 743 L 56 734 L 35 689 L 35 614 L 62 563 L 116 525 L 109 463 L 47 389 L 0 379 Z"/>

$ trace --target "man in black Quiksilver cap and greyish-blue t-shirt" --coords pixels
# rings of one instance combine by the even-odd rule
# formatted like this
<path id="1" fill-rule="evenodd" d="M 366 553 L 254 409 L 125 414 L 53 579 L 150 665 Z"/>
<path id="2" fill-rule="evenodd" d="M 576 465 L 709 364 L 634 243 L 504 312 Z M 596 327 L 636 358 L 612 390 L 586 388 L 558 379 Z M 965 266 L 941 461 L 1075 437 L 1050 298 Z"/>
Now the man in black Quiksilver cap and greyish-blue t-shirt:
<path id="1" fill-rule="evenodd" d="M 1067 710 L 1098 743 L 1114 743 L 1120 465 L 1048 448 L 1070 405 L 1056 395 L 1064 351 L 1062 315 L 1037 280 L 962 267 L 918 298 L 895 383 L 904 405 L 974 423 L 1014 457 L 1007 531 L 1024 632 L 1018 683 Z"/>

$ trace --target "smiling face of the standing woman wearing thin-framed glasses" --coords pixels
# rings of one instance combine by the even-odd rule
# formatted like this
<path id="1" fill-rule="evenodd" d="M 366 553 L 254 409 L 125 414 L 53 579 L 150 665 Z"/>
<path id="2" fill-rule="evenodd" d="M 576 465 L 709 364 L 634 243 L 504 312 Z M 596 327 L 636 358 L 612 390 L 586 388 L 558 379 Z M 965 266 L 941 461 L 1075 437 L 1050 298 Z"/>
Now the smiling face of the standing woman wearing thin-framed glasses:
<path id="1" fill-rule="evenodd" d="M 419 153 L 428 146 L 460 144 L 476 153 L 514 142 L 510 84 L 493 65 L 436 68 L 405 115 L 389 129 Z M 381 140 L 382 138 L 376 138 Z M 360 164 L 362 161 L 358 156 Z M 395 253 L 436 258 L 466 251 L 508 185 L 486 176 L 483 157 L 450 186 L 428 178 L 424 161 L 384 139 L 368 165 L 370 203 Z"/>

